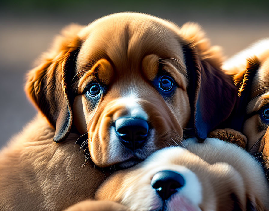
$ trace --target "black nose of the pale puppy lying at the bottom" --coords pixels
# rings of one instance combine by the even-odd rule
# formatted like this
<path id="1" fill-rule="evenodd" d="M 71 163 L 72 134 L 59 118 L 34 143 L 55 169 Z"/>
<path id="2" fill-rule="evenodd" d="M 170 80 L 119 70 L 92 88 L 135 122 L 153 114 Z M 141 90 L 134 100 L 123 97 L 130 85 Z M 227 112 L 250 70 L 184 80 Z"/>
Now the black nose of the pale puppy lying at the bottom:
<path id="1" fill-rule="evenodd" d="M 151 180 L 151 186 L 156 189 L 162 200 L 168 199 L 184 184 L 184 178 L 176 171 L 171 170 L 159 171 L 154 174 Z"/>

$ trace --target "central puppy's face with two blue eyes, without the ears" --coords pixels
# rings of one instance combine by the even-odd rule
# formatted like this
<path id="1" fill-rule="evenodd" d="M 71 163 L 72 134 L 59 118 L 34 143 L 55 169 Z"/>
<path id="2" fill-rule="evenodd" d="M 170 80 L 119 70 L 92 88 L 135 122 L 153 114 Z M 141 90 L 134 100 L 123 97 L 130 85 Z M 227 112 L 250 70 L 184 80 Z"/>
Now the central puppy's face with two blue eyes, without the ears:
<path id="1" fill-rule="evenodd" d="M 93 23 L 78 54 L 77 72 L 83 75 L 78 75 L 77 98 L 84 119 L 75 117 L 75 124 L 84 121 L 80 132 L 88 132 L 97 165 L 126 168 L 173 140 L 179 143 L 190 118 L 182 47 L 164 26 L 147 27 L 142 20 L 128 24 L 117 16 Z"/>

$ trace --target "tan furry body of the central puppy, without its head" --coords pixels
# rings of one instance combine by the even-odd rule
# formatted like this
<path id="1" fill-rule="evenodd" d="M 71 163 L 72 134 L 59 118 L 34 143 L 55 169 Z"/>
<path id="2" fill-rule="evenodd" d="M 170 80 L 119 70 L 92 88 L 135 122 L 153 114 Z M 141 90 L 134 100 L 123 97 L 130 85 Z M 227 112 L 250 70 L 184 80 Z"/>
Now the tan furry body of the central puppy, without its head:
<path id="1" fill-rule="evenodd" d="M 104 173 L 83 165 L 85 156 L 74 144 L 78 135 L 57 144 L 54 133 L 38 115 L 2 149 L 0 210 L 63 210 L 93 198 Z"/>

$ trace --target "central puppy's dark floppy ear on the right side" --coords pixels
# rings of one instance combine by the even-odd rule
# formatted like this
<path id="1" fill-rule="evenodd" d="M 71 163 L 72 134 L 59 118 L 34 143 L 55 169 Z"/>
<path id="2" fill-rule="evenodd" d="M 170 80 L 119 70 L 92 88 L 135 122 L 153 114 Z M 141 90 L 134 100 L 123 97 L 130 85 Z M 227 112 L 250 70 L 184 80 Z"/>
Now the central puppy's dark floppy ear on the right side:
<path id="1" fill-rule="evenodd" d="M 180 29 L 187 67 L 192 120 L 196 137 L 207 134 L 226 120 L 236 101 L 236 87 L 220 69 L 223 57 L 217 46 L 211 47 L 200 26 L 187 23 Z"/>

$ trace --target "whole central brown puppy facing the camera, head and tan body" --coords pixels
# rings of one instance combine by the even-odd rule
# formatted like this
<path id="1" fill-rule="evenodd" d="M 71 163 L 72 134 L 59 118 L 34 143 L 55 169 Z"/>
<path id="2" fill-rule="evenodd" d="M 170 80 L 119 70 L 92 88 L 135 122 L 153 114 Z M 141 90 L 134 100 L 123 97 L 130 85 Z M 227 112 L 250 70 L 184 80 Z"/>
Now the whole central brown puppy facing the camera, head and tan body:
<path id="1" fill-rule="evenodd" d="M 184 128 L 204 140 L 235 103 L 221 60 L 196 24 L 118 13 L 65 28 L 27 76 L 43 116 L 1 151 L 0 210 L 65 209 L 93 198 L 94 167 L 133 166 Z"/>

